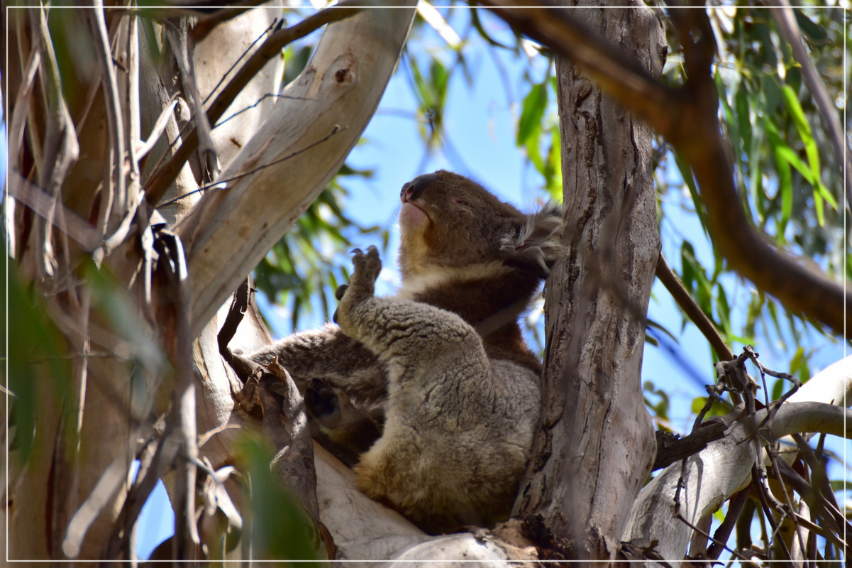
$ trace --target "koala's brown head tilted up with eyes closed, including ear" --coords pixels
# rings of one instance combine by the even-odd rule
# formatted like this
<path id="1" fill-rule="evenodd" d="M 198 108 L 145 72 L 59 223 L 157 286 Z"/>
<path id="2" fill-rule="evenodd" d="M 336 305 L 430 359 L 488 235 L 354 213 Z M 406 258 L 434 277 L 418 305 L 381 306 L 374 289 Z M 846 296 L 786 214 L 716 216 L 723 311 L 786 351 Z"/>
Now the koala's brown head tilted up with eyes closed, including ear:
<path id="1" fill-rule="evenodd" d="M 451 171 L 415 177 L 400 200 L 403 279 L 483 264 L 544 278 L 561 251 L 559 206 L 527 215 Z"/>

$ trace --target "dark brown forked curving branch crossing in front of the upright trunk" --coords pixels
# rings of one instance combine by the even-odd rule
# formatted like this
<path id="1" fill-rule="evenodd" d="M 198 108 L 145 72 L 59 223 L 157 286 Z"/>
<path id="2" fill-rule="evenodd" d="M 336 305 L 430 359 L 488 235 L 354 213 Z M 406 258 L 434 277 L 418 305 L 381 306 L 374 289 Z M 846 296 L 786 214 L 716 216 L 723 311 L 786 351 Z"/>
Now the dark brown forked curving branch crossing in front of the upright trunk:
<path id="1" fill-rule="evenodd" d="M 576 62 L 607 94 L 671 142 L 693 168 L 713 245 L 734 270 L 778 298 L 787 310 L 849 337 L 844 321 L 852 320 L 852 287 L 844 291 L 839 283 L 770 245 L 740 206 L 730 145 L 718 122 L 711 75 L 715 38 L 704 9 L 670 10 L 684 43 L 689 77 L 681 90 L 673 91 L 637 70 L 627 55 L 580 25 L 567 10 L 503 9 L 508 0 L 482 3 L 516 30 Z"/>

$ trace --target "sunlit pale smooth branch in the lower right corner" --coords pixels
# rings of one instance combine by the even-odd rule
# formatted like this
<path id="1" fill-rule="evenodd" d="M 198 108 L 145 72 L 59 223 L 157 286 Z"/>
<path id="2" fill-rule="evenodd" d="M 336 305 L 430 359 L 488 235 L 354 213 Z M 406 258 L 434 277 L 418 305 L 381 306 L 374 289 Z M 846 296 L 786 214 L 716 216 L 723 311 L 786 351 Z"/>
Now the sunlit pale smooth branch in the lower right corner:
<path id="1" fill-rule="evenodd" d="M 852 412 L 829 406 L 826 392 L 834 404 L 843 404 L 843 392 L 848 391 L 852 358 L 837 362 L 815 374 L 793 397 L 797 402 L 781 405 L 769 428 L 761 430 L 767 440 L 782 438 L 793 432 L 826 432 L 835 436 L 850 437 Z M 792 400 L 792 398 L 790 400 Z M 683 473 L 684 487 L 680 494 L 680 513 L 691 525 L 713 513 L 728 497 L 746 487 L 751 481 L 751 466 L 757 457 L 755 445 L 748 443 L 766 416 L 760 410 L 755 418 L 740 420 L 728 429 L 725 438 L 711 442 L 698 454 L 687 460 Z M 692 529 L 673 515 L 678 479 L 682 462 L 666 467 L 642 488 L 630 510 L 623 541 L 639 547 L 650 546 L 670 565 L 680 565 L 687 553 Z"/>

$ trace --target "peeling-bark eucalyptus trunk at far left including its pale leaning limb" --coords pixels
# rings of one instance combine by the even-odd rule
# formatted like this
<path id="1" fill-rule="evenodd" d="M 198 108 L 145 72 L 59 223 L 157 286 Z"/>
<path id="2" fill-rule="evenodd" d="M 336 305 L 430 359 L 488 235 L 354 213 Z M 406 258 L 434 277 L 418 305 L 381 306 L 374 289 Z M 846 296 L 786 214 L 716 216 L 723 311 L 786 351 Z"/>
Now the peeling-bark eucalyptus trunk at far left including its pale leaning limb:
<path id="1" fill-rule="evenodd" d="M 158 478 L 172 481 L 171 557 L 202 554 L 209 542 L 195 525 L 204 505 L 196 479 L 222 480 L 204 477 L 199 464 L 220 470 L 233 461 L 233 438 L 215 431 L 239 423 L 238 385 L 216 345 L 216 310 L 358 141 L 405 42 L 412 5 L 323 10 L 290 27 L 273 26 L 280 6 L 252 10 L 248 22 L 204 13 L 199 21 L 212 32 L 203 33 L 167 10 L 156 20 L 100 6 L 9 10 L 3 74 L 11 94 L 6 223 L 20 276 L 14 293 L 34 298 L 49 319 L 21 325 L 10 338 L 21 349 L 9 353 L 15 430 L 2 431 L 15 443 L 5 485 L 9 525 L 0 526 L 9 559 L 132 556 L 134 521 Z M 281 48 L 329 22 L 336 23 L 285 93 L 310 100 L 273 107 Z M 211 49 L 196 44 L 207 32 Z M 223 58 L 236 59 L 256 38 L 253 55 L 224 83 L 259 61 L 227 113 L 273 96 L 225 127 L 205 128 L 199 109 L 210 113 L 216 92 L 229 88 L 204 103 L 233 62 Z M 278 43 L 263 41 L 271 38 Z M 233 49 L 212 49 L 226 43 Z M 194 136 L 190 120 L 200 125 L 200 151 L 180 157 Z M 176 167 L 160 175 L 165 165 Z M 210 190 L 197 204 L 162 206 L 229 176 L 242 183 Z M 38 313 L 29 304 L 13 308 Z M 254 316 L 236 345 L 268 341 Z M 25 336 L 32 345 L 15 343 Z M 43 347 L 53 339 L 55 349 Z M 134 458 L 145 472 L 135 484 Z"/>

